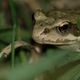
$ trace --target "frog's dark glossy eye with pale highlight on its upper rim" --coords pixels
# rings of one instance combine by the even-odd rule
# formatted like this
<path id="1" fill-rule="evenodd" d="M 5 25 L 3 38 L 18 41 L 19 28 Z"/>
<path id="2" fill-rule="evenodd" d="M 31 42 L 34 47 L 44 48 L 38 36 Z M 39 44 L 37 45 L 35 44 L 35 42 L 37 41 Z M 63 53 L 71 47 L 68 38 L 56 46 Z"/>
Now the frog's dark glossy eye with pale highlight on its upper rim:
<path id="1" fill-rule="evenodd" d="M 68 34 L 68 33 L 69 33 L 70 27 L 71 27 L 70 23 L 68 23 L 68 24 L 63 24 L 63 25 L 61 25 L 61 26 L 57 26 L 57 27 L 56 27 L 56 30 L 57 30 L 59 33 L 61 33 L 61 34 L 64 35 L 64 34 Z"/>

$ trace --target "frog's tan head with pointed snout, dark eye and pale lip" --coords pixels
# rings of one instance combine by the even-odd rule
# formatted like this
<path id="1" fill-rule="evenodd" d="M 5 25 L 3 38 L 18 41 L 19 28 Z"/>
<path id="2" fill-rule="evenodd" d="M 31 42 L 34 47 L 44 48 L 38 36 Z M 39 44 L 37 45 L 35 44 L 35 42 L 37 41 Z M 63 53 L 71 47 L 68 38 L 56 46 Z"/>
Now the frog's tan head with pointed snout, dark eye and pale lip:
<path id="1" fill-rule="evenodd" d="M 37 11 L 34 17 L 36 22 L 32 37 L 37 43 L 63 45 L 80 41 L 77 25 L 69 20 L 55 20 L 42 11 Z"/>

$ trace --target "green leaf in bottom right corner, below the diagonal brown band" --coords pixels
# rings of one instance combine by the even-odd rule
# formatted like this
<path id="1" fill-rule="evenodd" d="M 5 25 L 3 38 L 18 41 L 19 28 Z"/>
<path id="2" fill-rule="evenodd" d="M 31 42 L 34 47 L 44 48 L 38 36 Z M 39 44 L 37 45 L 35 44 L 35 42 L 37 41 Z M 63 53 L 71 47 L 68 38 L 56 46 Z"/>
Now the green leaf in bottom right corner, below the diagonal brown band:
<path id="1" fill-rule="evenodd" d="M 57 80 L 80 80 L 80 64 L 70 69 Z"/>

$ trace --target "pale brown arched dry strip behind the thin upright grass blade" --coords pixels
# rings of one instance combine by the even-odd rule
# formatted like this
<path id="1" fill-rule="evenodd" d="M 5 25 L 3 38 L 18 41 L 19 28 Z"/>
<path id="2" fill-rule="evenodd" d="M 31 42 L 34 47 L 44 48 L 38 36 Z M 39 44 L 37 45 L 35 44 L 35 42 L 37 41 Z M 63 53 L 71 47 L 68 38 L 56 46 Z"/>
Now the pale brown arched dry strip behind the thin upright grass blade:
<path id="1" fill-rule="evenodd" d="M 31 45 L 25 41 L 15 41 L 14 43 L 14 49 L 17 49 L 19 47 L 26 47 L 26 48 L 29 48 L 30 50 L 30 59 L 29 59 L 29 63 L 32 63 L 34 62 L 34 60 L 38 59 L 40 53 L 41 53 L 41 48 L 39 45 Z M 5 47 L 1 53 L 0 53 L 0 58 L 4 57 L 4 58 L 7 58 L 8 55 L 11 53 L 11 44 L 8 45 L 7 47 Z"/>

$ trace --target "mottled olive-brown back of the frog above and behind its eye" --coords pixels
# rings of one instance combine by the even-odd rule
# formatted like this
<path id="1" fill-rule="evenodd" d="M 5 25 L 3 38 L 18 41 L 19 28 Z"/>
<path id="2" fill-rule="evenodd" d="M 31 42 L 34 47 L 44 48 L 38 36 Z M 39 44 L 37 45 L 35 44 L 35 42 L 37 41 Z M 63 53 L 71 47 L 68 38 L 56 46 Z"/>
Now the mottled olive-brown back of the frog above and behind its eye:
<path id="1" fill-rule="evenodd" d="M 67 19 L 73 23 L 76 23 L 78 17 L 80 16 L 80 9 L 77 10 L 51 10 L 48 12 L 48 16 L 55 19 Z"/>

